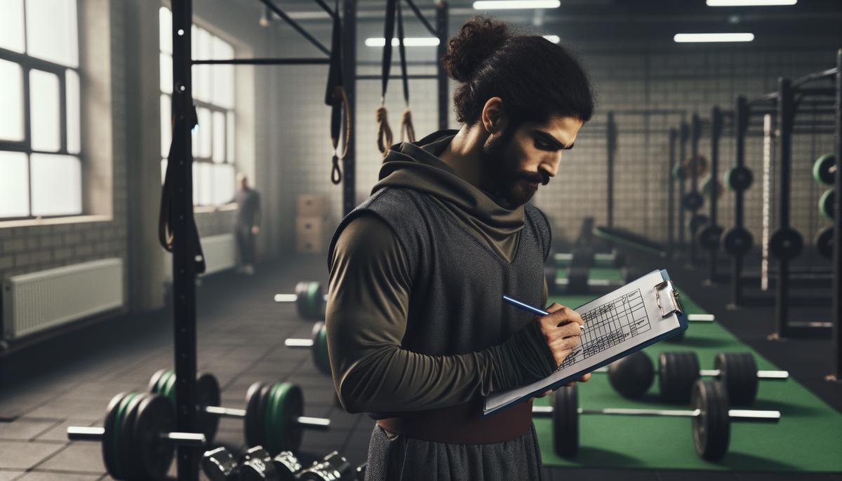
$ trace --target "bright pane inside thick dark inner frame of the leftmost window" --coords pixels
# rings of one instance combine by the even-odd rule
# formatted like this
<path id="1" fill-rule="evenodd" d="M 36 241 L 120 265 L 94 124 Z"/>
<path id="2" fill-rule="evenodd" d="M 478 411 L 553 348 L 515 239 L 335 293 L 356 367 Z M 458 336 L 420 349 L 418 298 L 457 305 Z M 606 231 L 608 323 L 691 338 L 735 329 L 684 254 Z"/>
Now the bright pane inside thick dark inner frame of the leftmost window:
<path id="1" fill-rule="evenodd" d="M 29 108 L 32 150 L 58 151 L 61 146 L 58 77 L 46 71 L 29 71 Z"/>

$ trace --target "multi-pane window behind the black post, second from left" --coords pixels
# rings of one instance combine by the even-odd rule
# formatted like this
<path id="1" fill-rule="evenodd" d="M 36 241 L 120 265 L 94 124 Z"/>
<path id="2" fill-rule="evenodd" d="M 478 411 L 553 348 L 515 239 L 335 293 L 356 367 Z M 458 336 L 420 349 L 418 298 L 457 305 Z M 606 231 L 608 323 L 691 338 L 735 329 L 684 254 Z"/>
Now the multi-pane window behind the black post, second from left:
<path id="1" fill-rule="evenodd" d="M 161 177 L 167 171 L 172 141 L 173 16 L 161 8 Z M 234 58 L 234 47 L 193 25 L 195 59 Z M 216 206 L 232 202 L 234 172 L 234 66 L 193 66 L 193 101 L 199 125 L 193 129 L 193 204 Z"/>

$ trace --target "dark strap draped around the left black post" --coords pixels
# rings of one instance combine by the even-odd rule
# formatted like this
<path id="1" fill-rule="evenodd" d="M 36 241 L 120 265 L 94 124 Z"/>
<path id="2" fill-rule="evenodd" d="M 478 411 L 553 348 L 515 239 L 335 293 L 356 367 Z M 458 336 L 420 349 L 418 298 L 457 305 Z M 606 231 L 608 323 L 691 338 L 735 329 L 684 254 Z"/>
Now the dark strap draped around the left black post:
<path id="1" fill-rule="evenodd" d="M 176 186 L 182 186 L 186 182 L 182 176 L 184 169 L 179 168 L 179 159 L 183 160 L 188 157 L 189 151 L 184 139 L 189 139 L 190 130 L 197 125 L 198 119 L 196 115 L 196 108 L 194 106 L 189 122 L 175 120 L 173 123 L 173 142 L 169 145 L 169 155 L 167 156 L 167 172 L 164 176 L 163 188 L 161 189 L 161 210 L 158 214 L 158 242 L 168 252 L 173 251 L 173 189 Z M 210 129 L 210 125 L 205 126 L 205 129 Z M 196 246 L 196 273 L 205 272 L 205 255 L 202 252 L 202 243 L 199 240 L 199 230 L 196 229 L 195 219 L 190 218 L 190 225 L 188 226 L 189 241 Z"/>

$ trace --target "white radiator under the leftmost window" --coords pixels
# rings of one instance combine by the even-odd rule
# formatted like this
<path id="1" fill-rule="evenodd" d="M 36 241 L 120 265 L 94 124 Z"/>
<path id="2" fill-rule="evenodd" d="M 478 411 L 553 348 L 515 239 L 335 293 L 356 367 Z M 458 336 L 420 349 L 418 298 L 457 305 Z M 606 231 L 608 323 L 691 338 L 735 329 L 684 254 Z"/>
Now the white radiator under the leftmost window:
<path id="1" fill-rule="evenodd" d="M 3 334 L 17 339 L 123 304 L 120 258 L 13 276 L 3 282 Z"/>

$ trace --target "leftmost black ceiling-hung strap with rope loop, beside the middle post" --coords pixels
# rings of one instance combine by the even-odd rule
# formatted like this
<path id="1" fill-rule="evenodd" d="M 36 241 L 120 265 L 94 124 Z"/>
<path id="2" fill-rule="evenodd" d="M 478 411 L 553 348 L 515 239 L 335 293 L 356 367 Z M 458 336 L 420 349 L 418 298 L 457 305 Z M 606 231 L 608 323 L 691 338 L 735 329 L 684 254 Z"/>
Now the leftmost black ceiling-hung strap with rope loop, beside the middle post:
<path id="1" fill-rule="evenodd" d="M 342 182 L 342 170 L 339 168 L 339 161 L 343 160 L 348 154 L 348 141 L 351 138 L 351 111 L 342 77 L 342 23 L 339 20 L 338 0 L 336 0 L 333 12 L 330 69 L 328 70 L 328 87 L 325 89 L 324 103 L 331 108 L 330 141 L 333 144 L 333 169 L 330 172 L 330 180 L 335 185 Z M 343 110 L 345 112 L 345 139 L 340 153 L 339 136 L 342 134 Z"/>

